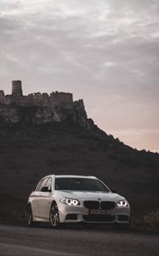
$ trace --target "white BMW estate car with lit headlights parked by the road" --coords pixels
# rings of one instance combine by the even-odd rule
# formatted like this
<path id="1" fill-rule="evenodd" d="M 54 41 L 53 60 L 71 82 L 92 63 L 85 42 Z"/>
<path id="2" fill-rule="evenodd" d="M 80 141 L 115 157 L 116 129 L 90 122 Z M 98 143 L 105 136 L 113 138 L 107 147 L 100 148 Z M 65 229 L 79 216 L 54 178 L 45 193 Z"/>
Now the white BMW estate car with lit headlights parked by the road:
<path id="1" fill-rule="evenodd" d="M 67 223 L 130 224 L 128 201 L 111 191 L 97 177 L 48 175 L 31 192 L 27 224 L 49 222 L 57 228 Z"/>

